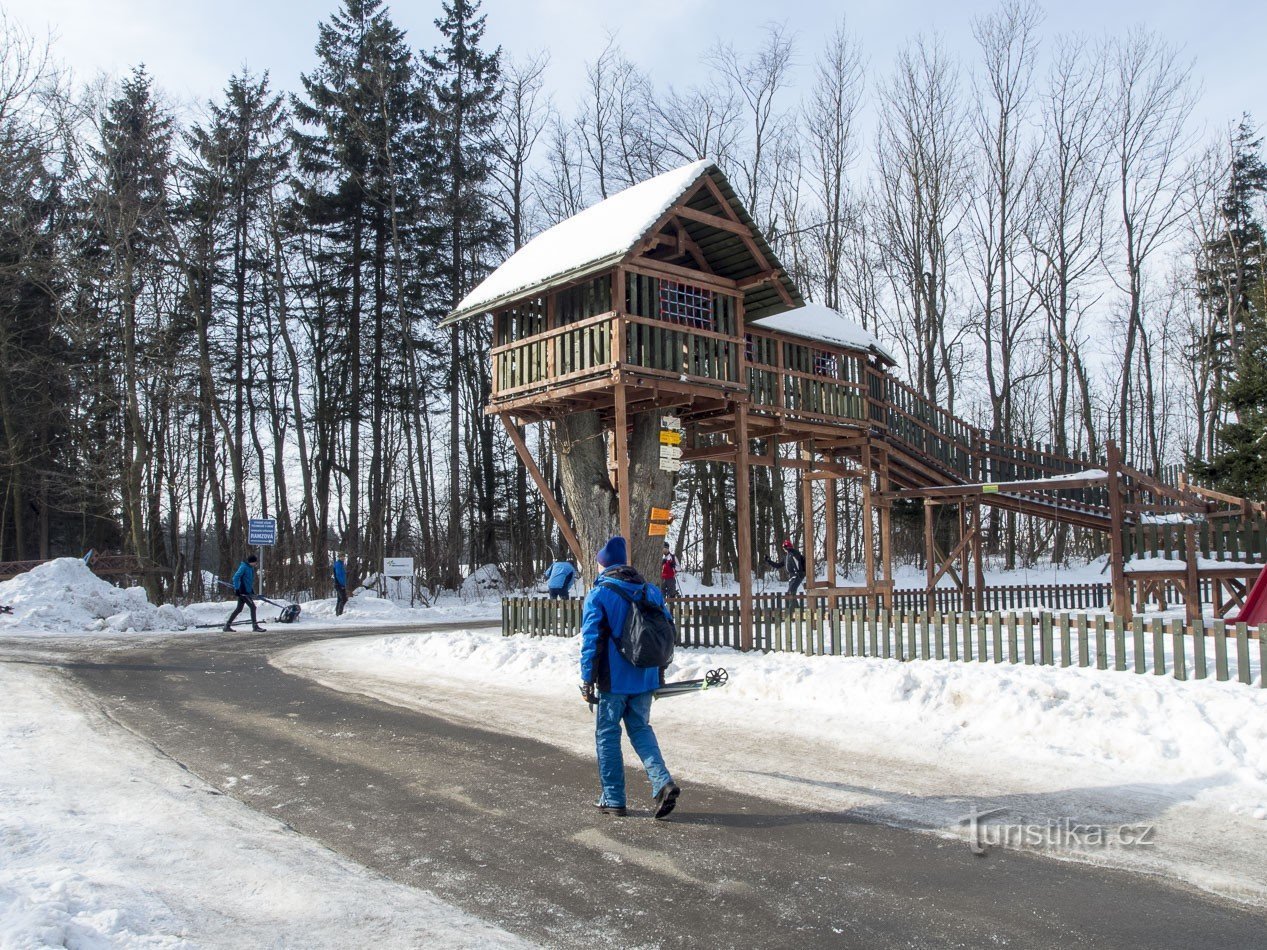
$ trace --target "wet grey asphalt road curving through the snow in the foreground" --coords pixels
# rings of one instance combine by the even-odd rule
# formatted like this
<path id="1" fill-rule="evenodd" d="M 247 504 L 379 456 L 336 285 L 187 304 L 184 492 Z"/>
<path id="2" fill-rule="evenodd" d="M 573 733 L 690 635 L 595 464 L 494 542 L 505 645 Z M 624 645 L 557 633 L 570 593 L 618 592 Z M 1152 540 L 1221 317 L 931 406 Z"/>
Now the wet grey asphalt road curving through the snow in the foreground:
<path id="1" fill-rule="evenodd" d="M 432 630 L 445 626 L 470 624 Z M 328 636 L 217 633 L 25 661 L 62 669 L 226 794 L 550 946 L 1267 945 L 1262 913 L 1164 880 L 1015 851 L 978 858 L 958 841 L 722 788 L 685 785 L 669 822 L 647 809 L 601 816 L 590 760 L 267 662 Z M 5 652 L 24 659 L 22 646 Z M 628 778 L 631 795 L 644 789 Z"/>

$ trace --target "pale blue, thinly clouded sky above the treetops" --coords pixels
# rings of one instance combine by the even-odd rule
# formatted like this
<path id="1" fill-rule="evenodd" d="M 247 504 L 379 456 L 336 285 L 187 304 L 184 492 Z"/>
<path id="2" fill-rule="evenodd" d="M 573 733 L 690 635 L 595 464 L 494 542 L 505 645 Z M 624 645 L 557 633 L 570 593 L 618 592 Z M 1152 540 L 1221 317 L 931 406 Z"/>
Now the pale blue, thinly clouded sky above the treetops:
<path id="1" fill-rule="evenodd" d="M 179 101 L 200 101 L 223 87 L 242 65 L 269 68 L 279 86 L 293 89 L 313 62 L 315 25 L 336 0 L 5 0 L 9 14 L 37 32 L 52 30 L 58 58 L 84 79 L 120 73 L 144 61 Z M 438 0 L 390 4 L 416 46 L 435 42 Z M 658 84 L 689 85 L 699 54 L 715 39 L 739 48 L 759 39 L 770 19 L 787 23 L 807 67 L 820 38 L 840 16 L 860 38 L 872 75 L 888 68 L 895 51 L 919 30 L 936 30 L 965 58 L 972 56 L 971 22 L 991 10 L 987 0 L 887 0 L 826 3 L 794 0 L 484 0 L 489 37 L 511 53 L 549 48 L 550 85 L 570 108 L 584 79 L 584 61 L 616 32 L 630 58 Z M 1121 32 L 1145 24 L 1195 61 L 1202 86 L 1199 122 L 1216 129 L 1243 110 L 1267 122 L 1267 3 L 1175 3 L 1173 0 L 1064 0 L 1048 3 L 1044 32 Z M 807 72 L 807 70 L 802 70 Z"/>

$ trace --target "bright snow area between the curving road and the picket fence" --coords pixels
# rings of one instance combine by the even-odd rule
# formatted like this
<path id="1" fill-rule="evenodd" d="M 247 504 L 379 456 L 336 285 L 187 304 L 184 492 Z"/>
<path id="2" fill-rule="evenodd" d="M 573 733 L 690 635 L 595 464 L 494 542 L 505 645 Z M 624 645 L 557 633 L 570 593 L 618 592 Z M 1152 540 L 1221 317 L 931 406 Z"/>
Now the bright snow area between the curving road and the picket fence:
<path id="1" fill-rule="evenodd" d="M 315 642 L 274 664 L 589 757 L 578 652 L 579 638 L 464 631 Z M 1148 825 L 1148 845 L 1052 854 L 1267 904 L 1267 690 L 730 650 L 679 650 L 669 679 L 718 666 L 723 689 L 655 706 L 684 808 L 689 783 L 707 782 L 952 837 L 973 808 L 1002 808 L 1007 825 Z M 631 787 L 631 801 L 644 793 Z"/>

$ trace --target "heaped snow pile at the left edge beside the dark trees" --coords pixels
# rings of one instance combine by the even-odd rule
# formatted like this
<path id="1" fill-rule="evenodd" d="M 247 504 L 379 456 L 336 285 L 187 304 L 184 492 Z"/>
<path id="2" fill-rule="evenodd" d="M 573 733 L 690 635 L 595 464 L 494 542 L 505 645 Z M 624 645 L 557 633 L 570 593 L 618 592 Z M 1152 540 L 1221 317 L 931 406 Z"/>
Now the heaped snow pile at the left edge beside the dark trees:
<path id="1" fill-rule="evenodd" d="M 15 628 L 58 633 L 91 631 L 184 630 L 185 613 L 155 607 L 142 588 L 117 588 L 77 557 L 58 557 L 0 583 L 0 633 Z"/>

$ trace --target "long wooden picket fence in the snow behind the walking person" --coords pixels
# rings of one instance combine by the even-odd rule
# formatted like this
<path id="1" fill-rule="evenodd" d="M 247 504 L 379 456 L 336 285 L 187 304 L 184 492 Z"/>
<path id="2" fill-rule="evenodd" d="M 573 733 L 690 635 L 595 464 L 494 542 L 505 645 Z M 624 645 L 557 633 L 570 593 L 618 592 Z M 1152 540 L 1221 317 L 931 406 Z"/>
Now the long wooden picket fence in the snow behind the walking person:
<path id="1" fill-rule="evenodd" d="M 753 646 L 768 652 L 1073 666 L 1267 685 L 1267 626 L 1214 621 L 1188 628 L 1177 618 L 1126 623 L 1050 612 L 868 613 L 815 600 L 788 608 L 779 594 L 753 600 Z M 682 597 L 670 605 L 680 646 L 739 649 L 737 597 Z M 506 598 L 502 632 L 570 637 L 580 632 L 580 600 Z"/>

